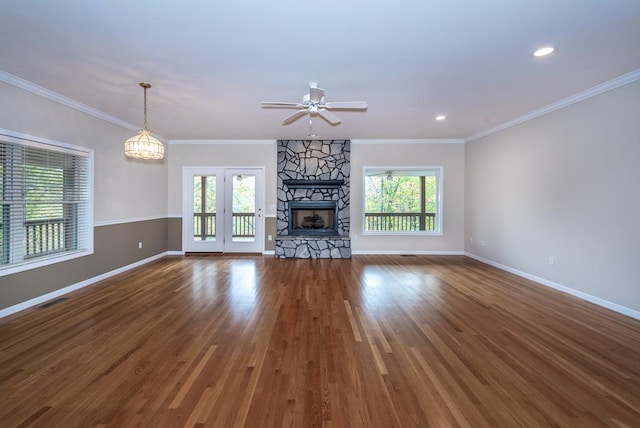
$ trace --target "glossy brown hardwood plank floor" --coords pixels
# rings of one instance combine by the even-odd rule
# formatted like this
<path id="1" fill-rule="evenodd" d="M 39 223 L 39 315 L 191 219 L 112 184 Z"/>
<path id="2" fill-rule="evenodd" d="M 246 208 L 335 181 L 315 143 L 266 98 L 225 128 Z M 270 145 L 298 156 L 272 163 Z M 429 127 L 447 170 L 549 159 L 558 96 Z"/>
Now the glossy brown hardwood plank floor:
<path id="1" fill-rule="evenodd" d="M 0 425 L 640 426 L 640 322 L 462 256 L 169 257 L 0 320 Z"/>

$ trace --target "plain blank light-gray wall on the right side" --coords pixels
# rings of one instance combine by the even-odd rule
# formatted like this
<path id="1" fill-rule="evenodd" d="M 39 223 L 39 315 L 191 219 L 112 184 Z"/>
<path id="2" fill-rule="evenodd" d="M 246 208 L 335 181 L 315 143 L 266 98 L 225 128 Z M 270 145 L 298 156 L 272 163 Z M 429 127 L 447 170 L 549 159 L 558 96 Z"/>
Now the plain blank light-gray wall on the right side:
<path id="1" fill-rule="evenodd" d="M 635 81 L 468 143 L 466 251 L 640 311 L 639 119 Z"/>

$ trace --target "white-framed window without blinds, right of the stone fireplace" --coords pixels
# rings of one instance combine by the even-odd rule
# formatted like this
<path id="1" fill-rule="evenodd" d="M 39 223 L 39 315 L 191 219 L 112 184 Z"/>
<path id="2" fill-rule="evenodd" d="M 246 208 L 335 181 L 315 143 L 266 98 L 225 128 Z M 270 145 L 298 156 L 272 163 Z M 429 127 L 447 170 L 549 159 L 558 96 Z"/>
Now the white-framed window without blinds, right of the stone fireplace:
<path id="1" fill-rule="evenodd" d="M 442 167 L 364 168 L 364 233 L 442 234 Z"/>

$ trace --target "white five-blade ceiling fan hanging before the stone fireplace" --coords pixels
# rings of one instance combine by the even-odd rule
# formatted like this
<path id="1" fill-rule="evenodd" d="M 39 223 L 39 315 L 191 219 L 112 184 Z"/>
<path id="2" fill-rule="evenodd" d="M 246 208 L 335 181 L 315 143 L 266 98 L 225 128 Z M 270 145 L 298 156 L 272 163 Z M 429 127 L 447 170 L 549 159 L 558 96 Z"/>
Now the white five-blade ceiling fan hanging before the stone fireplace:
<path id="1" fill-rule="evenodd" d="M 285 125 L 301 118 L 305 114 L 310 116 L 318 115 L 330 124 L 337 125 L 340 123 L 340 118 L 329 110 L 366 110 L 367 103 L 365 101 L 325 102 L 324 89 L 319 88 L 317 82 L 311 82 L 309 83 L 309 93 L 302 97 L 301 103 L 263 102 L 262 107 L 298 109 L 298 111 L 282 120 Z"/>

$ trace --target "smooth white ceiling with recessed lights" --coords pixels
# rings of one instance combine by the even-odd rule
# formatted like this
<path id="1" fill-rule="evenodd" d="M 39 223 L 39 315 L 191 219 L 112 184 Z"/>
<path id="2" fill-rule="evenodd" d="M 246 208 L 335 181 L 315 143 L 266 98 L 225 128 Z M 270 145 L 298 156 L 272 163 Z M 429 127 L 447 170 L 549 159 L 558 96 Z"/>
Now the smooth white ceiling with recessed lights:
<path id="1" fill-rule="evenodd" d="M 0 70 L 138 127 L 148 81 L 166 139 L 304 137 L 260 103 L 310 81 L 369 104 L 312 133 L 466 138 L 639 69 L 638 0 L 0 0 Z"/>

